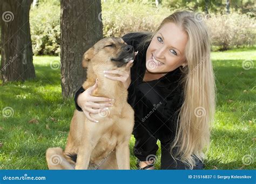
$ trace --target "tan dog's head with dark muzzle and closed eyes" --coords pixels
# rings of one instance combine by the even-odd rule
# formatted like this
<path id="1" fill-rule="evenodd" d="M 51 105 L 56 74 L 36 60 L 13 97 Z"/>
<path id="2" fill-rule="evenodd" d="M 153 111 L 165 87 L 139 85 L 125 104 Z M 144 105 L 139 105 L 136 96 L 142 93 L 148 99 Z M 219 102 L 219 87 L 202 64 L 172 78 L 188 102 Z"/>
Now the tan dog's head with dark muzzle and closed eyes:
<path id="1" fill-rule="evenodd" d="M 91 62 L 123 67 L 134 56 L 133 46 L 127 45 L 122 38 L 104 38 L 84 53 L 82 66 L 86 68 Z"/>

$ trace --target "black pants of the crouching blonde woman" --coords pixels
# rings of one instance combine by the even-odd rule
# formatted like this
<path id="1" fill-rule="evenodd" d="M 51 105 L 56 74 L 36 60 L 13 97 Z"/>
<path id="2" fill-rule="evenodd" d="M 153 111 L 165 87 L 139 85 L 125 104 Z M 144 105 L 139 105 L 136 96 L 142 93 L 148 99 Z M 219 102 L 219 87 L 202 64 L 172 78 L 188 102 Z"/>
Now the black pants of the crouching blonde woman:
<path id="1" fill-rule="evenodd" d="M 133 130 L 134 138 L 136 139 L 133 148 L 134 155 L 140 161 L 147 161 L 156 157 L 158 150 L 157 138 L 147 131 L 142 125 L 138 125 Z M 169 152 L 170 143 L 161 143 L 161 168 L 160 169 L 189 169 L 187 165 L 179 160 L 174 160 Z M 176 150 L 173 150 L 173 153 Z M 197 160 L 196 166 L 193 169 L 203 169 L 204 164 Z"/>

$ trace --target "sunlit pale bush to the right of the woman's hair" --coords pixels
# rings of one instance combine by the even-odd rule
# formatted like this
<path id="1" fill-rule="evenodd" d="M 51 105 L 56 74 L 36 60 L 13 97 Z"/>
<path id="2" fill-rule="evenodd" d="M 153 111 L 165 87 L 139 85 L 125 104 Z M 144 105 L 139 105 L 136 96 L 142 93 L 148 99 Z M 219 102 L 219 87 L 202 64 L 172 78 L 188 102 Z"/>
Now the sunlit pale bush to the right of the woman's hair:
<path id="1" fill-rule="evenodd" d="M 255 44 L 255 18 L 246 14 L 211 15 L 206 24 L 213 45 L 221 50 Z"/>

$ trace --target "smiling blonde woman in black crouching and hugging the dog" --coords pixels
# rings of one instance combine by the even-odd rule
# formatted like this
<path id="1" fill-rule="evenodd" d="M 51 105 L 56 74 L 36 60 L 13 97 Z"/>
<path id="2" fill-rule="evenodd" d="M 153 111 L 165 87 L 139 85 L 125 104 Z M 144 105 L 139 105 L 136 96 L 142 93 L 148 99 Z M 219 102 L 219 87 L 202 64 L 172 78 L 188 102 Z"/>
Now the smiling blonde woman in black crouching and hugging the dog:
<path id="1" fill-rule="evenodd" d="M 127 63 L 126 72 L 110 70 L 105 77 L 122 81 L 129 91 L 138 168 L 154 168 L 159 139 L 161 169 L 203 169 L 215 109 L 205 24 L 192 12 L 179 11 L 166 17 L 153 33 L 129 33 L 122 38 L 139 53 L 134 62 Z M 90 113 L 107 110 L 112 102 L 91 96 L 96 87 L 97 82 L 86 90 L 80 88 L 75 95 L 76 108 L 91 121 L 95 120 Z"/>

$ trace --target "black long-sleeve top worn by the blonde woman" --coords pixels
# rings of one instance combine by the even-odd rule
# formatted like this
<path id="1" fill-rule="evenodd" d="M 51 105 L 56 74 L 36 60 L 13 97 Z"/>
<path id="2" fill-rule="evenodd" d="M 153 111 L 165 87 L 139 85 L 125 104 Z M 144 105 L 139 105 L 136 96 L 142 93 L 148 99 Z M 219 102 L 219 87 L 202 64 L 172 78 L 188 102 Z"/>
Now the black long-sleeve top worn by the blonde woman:
<path id="1" fill-rule="evenodd" d="M 128 45 L 134 47 L 134 51 L 139 51 L 131 67 L 127 102 L 134 110 L 134 129 L 142 125 L 165 143 L 176 136 L 178 114 L 184 101 L 183 86 L 180 83 L 183 75 L 180 68 L 177 68 L 160 79 L 143 82 L 149 44 L 141 48 L 138 48 L 138 45 L 145 36 L 145 33 L 134 32 L 122 37 Z M 75 104 L 79 111 L 82 109 L 77 105 L 77 96 L 83 91 L 81 87 L 75 94 Z"/>

